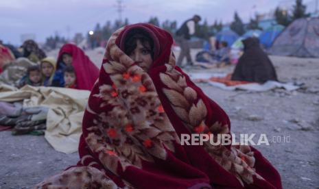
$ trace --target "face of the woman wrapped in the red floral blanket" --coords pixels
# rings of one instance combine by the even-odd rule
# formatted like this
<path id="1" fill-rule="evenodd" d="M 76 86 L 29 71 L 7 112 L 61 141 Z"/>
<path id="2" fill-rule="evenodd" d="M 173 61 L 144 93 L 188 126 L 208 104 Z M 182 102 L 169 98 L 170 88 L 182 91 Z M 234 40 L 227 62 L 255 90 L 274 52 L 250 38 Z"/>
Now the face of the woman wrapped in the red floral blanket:
<path id="1" fill-rule="evenodd" d="M 153 64 L 151 47 L 148 42 L 144 46 L 140 40 L 137 40 L 137 47 L 129 54 L 130 58 L 134 60 L 145 72 L 147 72 Z"/>

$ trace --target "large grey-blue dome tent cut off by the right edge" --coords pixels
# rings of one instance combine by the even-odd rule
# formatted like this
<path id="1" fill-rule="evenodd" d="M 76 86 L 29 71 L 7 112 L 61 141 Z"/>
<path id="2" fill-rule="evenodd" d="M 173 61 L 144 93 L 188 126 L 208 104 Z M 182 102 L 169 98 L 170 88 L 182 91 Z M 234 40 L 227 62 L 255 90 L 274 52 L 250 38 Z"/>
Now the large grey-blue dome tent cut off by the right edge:
<path id="1" fill-rule="evenodd" d="M 273 55 L 319 58 L 319 18 L 299 18 L 274 40 Z"/>

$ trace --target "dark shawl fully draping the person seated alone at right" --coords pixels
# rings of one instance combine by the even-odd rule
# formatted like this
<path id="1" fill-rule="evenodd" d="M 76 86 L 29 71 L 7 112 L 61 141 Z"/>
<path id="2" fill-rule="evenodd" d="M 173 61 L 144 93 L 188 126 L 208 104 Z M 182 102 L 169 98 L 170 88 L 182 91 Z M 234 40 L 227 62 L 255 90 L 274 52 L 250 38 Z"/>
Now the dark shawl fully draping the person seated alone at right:
<path id="1" fill-rule="evenodd" d="M 244 54 L 238 60 L 235 71 L 231 77 L 236 81 L 252 81 L 264 83 L 277 81 L 276 70 L 268 55 L 261 49 L 258 38 L 246 38 Z"/>

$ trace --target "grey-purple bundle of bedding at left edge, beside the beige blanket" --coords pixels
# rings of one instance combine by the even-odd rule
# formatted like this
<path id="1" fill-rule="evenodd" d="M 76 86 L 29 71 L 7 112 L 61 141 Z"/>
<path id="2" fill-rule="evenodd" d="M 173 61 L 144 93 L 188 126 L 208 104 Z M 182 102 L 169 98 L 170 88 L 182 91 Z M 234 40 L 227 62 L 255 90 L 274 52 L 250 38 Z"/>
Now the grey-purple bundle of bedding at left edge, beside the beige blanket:
<path id="1" fill-rule="evenodd" d="M 48 111 L 42 106 L 23 108 L 22 102 L 0 101 L 0 125 L 12 128 L 13 135 L 44 134 Z"/>

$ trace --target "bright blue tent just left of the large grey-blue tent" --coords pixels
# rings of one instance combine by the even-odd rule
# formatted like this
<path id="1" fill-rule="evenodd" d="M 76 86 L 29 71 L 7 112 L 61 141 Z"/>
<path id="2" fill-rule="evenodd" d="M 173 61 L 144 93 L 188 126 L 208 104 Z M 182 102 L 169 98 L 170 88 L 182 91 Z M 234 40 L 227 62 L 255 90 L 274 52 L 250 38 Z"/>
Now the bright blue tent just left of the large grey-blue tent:
<path id="1" fill-rule="evenodd" d="M 259 36 L 260 44 L 266 49 L 270 48 L 274 39 L 281 34 L 281 31 L 283 31 L 284 28 L 283 25 L 272 25 L 271 27 L 268 27 L 268 29 L 263 31 Z"/>

